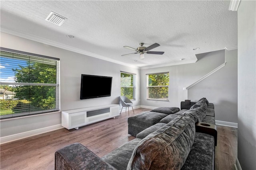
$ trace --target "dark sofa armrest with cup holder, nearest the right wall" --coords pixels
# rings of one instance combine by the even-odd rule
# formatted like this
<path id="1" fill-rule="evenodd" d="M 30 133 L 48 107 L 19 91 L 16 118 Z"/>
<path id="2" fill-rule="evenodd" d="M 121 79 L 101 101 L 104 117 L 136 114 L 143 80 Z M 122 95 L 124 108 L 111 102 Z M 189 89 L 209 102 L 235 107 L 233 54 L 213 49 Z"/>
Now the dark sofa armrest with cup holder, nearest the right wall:
<path id="1" fill-rule="evenodd" d="M 196 123 L 196 132 L 206 133 L 214 137 L 215 146 L 217 146 L 217 127 L 212 123 L 198 122 Z"/>

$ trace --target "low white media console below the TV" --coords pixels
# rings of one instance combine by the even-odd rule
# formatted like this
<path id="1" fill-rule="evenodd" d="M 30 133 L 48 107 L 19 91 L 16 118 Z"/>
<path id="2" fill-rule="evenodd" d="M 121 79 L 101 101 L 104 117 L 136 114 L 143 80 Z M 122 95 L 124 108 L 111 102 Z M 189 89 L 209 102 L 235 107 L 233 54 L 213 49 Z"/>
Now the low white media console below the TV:
<path id="1" fill-rule="evenodd" d="M 85 107 L 61 112 L 61 125 L 67 129 L 89 125 L 120 115 L 118 104 Z"/>

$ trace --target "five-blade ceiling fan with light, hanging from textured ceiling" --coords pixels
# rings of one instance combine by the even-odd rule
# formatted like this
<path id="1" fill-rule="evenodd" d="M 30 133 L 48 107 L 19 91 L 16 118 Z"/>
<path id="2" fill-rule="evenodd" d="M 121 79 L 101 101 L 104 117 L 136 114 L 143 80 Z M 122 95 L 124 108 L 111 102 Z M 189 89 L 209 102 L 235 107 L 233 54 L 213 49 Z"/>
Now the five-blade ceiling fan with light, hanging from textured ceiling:
<path id="1" fill-rule="evenodd" d="M 150 45 L 148 47 L 143 47 L 143 45 L 144 45 L 144 43 L 140 43 L 141 47 L 138 47 L 137 49 L 134 49 L 134 48 L 128 47 L 128 46 L 124 46 L 124 48 L 126 48 L 126 49 L 135 50 L 137 52 L 136 53 L 131 53 L 131 54 L 125 54 L 125 55 L 121 55 L 121 56 L 133 55 L 133 54 L 140 53 L 140 59 L 144 59 L 145 58 L 144 53 L 147 53 L 147 54 L 160 54 L 160 55 L 164 54 L 164 52 L 162 52 L 162 51 L 149 51 L 151 49 L 154 49 L 154 48 L 160 46 L 158 43 L 154 43 L 154 44 L 152 44 L 152 45 Z"/>

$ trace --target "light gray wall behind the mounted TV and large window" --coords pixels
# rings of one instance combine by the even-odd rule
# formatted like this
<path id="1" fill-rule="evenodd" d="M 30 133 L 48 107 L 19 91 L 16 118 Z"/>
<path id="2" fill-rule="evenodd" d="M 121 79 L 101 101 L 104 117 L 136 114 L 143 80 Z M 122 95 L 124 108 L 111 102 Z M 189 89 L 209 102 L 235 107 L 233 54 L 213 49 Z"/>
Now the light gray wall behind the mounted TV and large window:
<path id="1" fill-rule="evenodd" d="M 60 108 L 61 111 L 82 107 L 118 104 L 120 96 L 120 71 L 136 74 L 140 80 L 140 70 L 67 51 L 50 45 L 38 43 L 1 32 L 1 47 L 36 53 L 60 59 Z M 80 100 L 81 74 L 112 76 L 112 93 L 110 97 Z M 136 98 L 140 98 L 140 81 L 136 81 Z M 139 106 L 139 100 L 133 101 Z M 50 113 L 3 119 L 0 123 L 1 137 L 33 131 L 36 129 L 61 124 L 61 113 Z"/>

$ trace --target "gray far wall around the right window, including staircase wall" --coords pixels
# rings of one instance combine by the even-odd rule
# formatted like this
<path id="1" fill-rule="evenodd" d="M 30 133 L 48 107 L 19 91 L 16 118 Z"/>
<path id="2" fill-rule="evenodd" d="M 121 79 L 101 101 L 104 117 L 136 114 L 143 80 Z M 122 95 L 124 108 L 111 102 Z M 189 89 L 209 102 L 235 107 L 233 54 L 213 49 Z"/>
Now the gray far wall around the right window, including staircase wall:
<path id="1" fill-rule="evenodd" d="M 216 120 L 237 123 L 237 50 L 226 51 L 227 64 L 188 91 L 188 87 L 225 62 L 225 50 L 197 55 L 198 61 L 192 64 L 166 66 L 141 70 L 141 105 L 176 106 L 180 101 L 197 101 L 206 97 L 216 105 Z M 169 72 L 170 101 L 146 100 L 146 74 Z M 228 110 L 227 110 L 228 108 Z"/>

